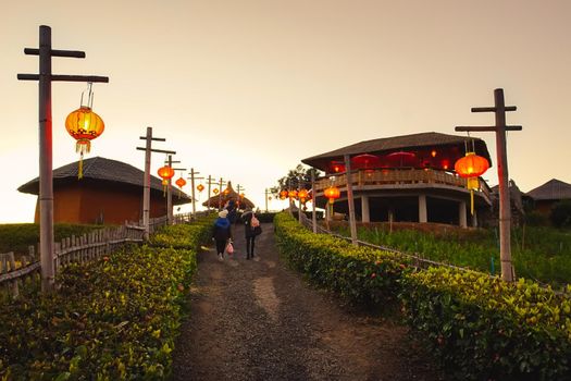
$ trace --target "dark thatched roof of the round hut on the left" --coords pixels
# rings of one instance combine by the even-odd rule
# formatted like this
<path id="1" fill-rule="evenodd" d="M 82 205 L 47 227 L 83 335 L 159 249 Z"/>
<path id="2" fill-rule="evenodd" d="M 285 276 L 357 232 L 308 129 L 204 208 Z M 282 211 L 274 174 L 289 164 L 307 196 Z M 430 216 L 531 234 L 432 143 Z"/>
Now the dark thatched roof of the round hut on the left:
<path id="1" fill-rule="evenodd" d="M 131 164 L 122 161 L 105 159 L 102 157 L 95 157 L 85 159 L 83 163 L 83 179 L 77 179 L 79 162 L 75 161 L 70 164 L 60 167 L 53 170 L 53 184 L 70 183 L 71 181 L 98 181 L 112 182 L 117 184 L 129 184 L 134 186 L 144 187 L 142 181 L 145 172 Z M 39 177 L 30 180 L 21 185 L 17 190 L 22 193 L 29 193 L 33 195 L 39 194 Z M 163 193 L 163 185 L 159 177 L 151 175 L 151 192 Z M 181 197 L 173 197 L 174 205 L 190 202 L 191 198 L 185 193 L 181 193 Z"/>

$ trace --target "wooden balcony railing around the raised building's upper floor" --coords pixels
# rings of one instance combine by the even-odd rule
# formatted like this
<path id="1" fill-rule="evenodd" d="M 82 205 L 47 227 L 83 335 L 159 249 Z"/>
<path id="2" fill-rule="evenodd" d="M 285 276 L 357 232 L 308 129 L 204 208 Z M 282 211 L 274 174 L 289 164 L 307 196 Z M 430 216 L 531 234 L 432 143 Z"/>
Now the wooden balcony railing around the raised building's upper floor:
<path id="1" fill-rule="evenodd" d="M 335 186 L 344 188 L 347 185 L 347 174 L 340 174 L 335 176 Z M 467 187 L 467 180 L 458 176 L 457 174 L 435 171 L 431 169 L 417 170 L 360 170 L 351 173 L 351 184 L 355 190 L 371 189 L 371 187 L 377 186 L 380 189 L 383 186 L 396 185 L 396 184 L 442 184 L 450 187 L 464 188 Z M 323 194 L 323 190 L 332 185 L 330 179 L 321 179 L 315 182 L 315 193 Z M 480 180 L 480 192 L 476 194 L 481 195 L 488 201 L 491 200 L 491 189 L 487 184 Z"/>

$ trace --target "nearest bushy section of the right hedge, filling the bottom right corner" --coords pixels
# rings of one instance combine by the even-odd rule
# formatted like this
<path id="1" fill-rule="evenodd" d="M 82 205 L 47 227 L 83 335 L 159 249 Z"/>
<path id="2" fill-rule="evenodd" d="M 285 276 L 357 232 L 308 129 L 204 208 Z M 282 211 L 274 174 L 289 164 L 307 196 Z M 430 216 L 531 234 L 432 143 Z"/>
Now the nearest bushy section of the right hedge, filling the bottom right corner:
<path id="1" fill-rule="evenodd" d="M 447 268 L 402 286 L 406 321 L 454 379 L 571 379 L 570 294 Z"/>

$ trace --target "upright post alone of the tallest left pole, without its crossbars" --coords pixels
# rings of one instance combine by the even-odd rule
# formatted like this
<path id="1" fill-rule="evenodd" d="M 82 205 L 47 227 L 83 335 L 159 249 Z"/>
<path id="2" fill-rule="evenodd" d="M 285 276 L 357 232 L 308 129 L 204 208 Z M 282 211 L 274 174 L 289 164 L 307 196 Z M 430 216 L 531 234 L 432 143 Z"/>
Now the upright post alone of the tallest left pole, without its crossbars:
<path id="1" fill-rule="evenodd" d="M 51 28 L 39 27 L 39 242 L 41 291 L 53 288 L 53 174 L 51 121 Z"/>

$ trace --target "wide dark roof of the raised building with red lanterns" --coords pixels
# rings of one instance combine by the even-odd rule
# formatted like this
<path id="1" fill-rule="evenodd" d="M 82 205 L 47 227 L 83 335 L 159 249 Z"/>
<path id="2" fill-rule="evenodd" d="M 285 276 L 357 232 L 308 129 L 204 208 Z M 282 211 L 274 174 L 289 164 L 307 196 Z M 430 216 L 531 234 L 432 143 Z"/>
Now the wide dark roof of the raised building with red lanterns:
<path id="1" fill-rule="evenodd" d="M 321 170 L 325 170 L 327 163 L 331 160 L 343 160 L 344 155 L 378 155 L 382 152 L 389 152 L 395 150 L 413 148 L 419 149 L 434 146 L 461 146 L 462 150 L 464 150 L 464 144 L 468 140 L 474 142 L 476 153 L 486 158 L 489 162 L 489 165 L 492 167 L 492 159 L 489 157 L 489 152 L 484 140 L 475 137 L 468 138 L 466 136 L 447 135 L 435 132 L 364 140 L 350 146 L 335 149 L 333 151 L 312 156 L 310 158 L 301 160 L 301 162 L 314 168 L 319 168 Z"/>

